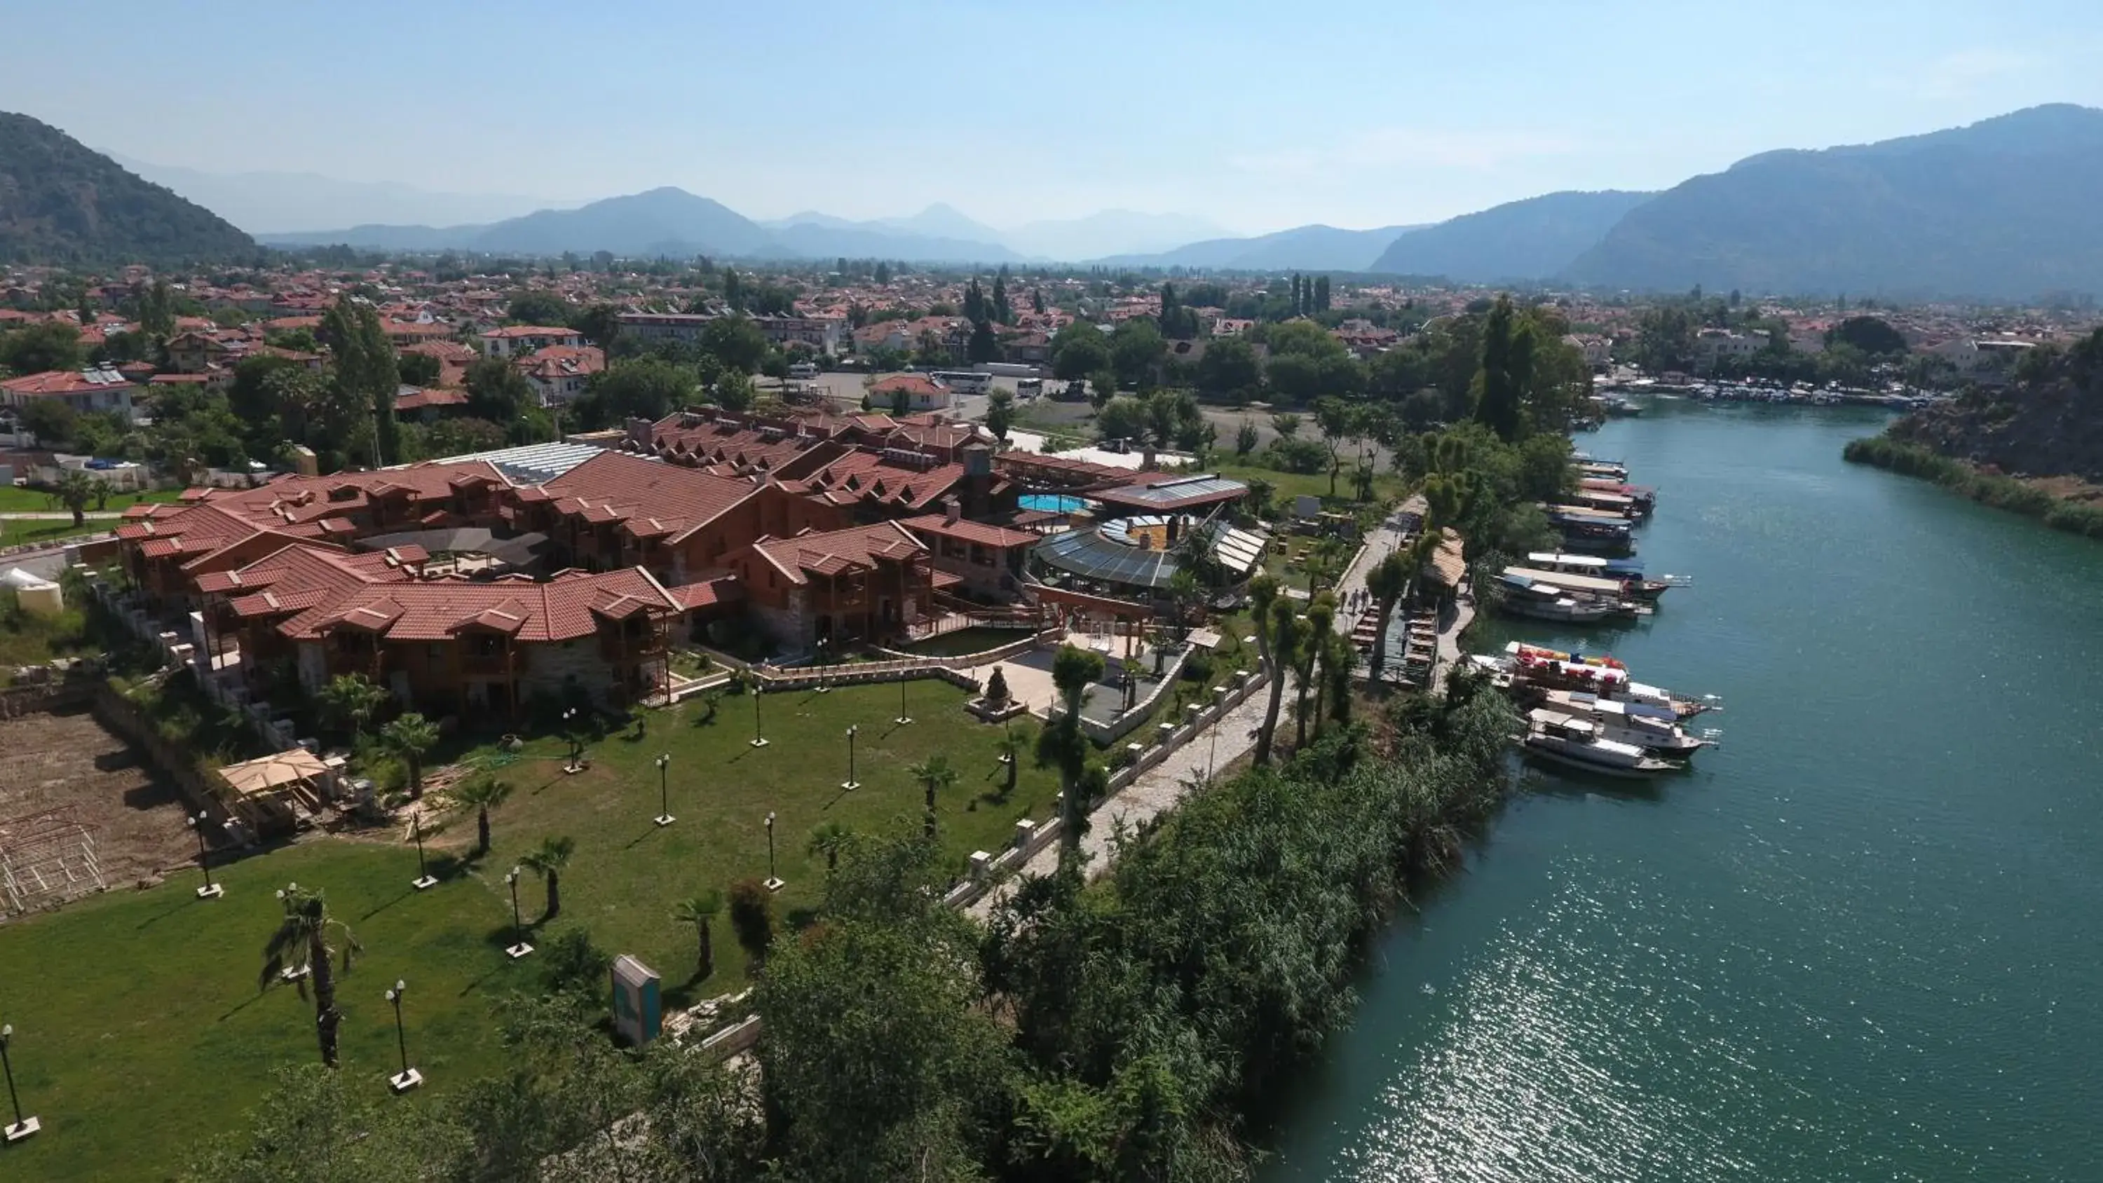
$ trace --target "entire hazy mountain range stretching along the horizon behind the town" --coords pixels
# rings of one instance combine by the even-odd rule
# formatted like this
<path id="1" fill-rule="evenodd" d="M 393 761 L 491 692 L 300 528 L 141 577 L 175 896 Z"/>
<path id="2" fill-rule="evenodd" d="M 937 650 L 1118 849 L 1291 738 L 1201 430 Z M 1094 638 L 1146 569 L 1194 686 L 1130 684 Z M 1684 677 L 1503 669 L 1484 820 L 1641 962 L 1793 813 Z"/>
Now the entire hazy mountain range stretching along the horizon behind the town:
<path id="1" fill-rule="evenodd" d="M 210 174 L 158 170 L 156 177 L 196 187 Z M 307 189 L 341 185 L 305 174 L 261 177 L 290 177 Z M 387 193 L 425 202 L 421 208 L 446 198 L 408 187 L 368 189 L 381 193 L 366 193 L 368 204 L 358 208 L 374 208 L 370 202 Z M 330 193 L 341 198 L 345 189 Z M 1769 151 L 1661 193 L 1546 193 L 1436 225 L 1363 231 L 1306 225 L 1232 237 L 1203 219 L 1131 210 L 999 229 L 946 204 L 896 219 L 805 210 L 759 223 L 709 198 L 662 187 L 498 221 L 368 223 L 259 237 L 278 246 L 492 254 L 1096 261 L 1636 292 L 1699 284 L 2021 300 L 2103 290 L 2103 210 L 2095 193 L 2103 193 L 2103 111 L 2046 105 L 1870 145 Z M 57 128 L 0 116 L 0 256 L 227 258 L 250 250 L 248 235 L 200 204 Z"/>

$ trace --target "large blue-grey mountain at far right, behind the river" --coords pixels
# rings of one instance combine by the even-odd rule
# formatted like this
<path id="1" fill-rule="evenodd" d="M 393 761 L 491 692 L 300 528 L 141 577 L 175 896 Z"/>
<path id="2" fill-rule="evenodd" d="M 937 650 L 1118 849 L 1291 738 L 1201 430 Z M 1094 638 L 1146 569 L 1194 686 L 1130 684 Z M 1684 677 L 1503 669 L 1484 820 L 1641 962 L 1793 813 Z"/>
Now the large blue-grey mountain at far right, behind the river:
<path id="1" fill-rule="evenodd" d="M 1607 288 L 2023 300 L 2103 290 L 2103 111 L 1769 151 L 1642 204 L 1569 269 Z"/>

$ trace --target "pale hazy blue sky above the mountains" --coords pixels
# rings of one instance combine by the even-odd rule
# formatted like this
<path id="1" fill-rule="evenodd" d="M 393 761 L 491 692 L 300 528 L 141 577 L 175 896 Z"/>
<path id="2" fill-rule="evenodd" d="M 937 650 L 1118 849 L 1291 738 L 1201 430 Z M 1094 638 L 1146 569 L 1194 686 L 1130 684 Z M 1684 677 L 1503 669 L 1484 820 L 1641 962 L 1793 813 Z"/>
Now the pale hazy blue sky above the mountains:
<path id="1" fill-rule="evenodd" d="M 2103 105 L 2097 0 L 6 8 L 0 109 L 101 149 L 751 216 L 1371 227 Z"/>

